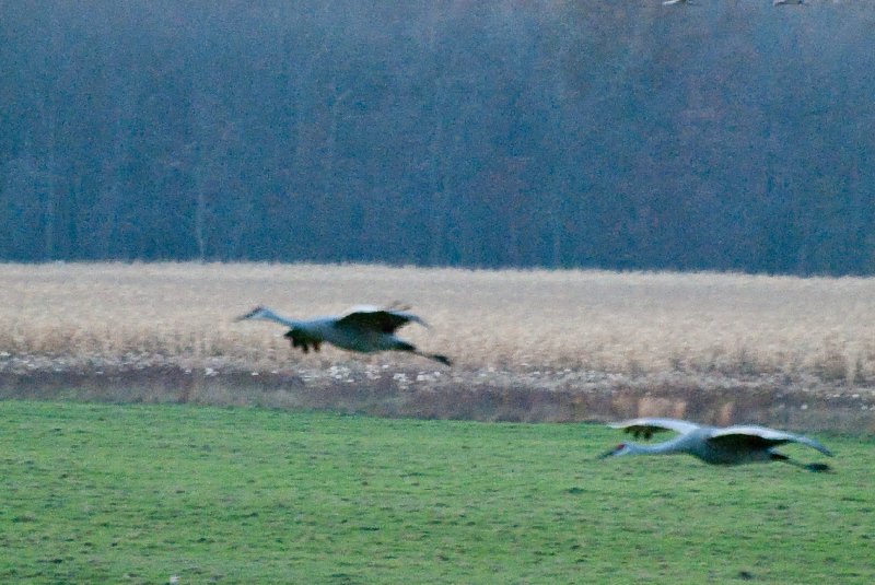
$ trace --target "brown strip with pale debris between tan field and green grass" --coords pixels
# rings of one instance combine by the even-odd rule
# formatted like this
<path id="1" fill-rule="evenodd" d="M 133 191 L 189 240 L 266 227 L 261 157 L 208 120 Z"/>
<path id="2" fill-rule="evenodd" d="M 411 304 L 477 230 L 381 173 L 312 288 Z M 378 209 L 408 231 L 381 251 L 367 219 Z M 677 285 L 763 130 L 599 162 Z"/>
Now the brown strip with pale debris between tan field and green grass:
<path id="1" fill-rule="evenodd" d="M 402 370 L 350 362 L 327 370 L 253 371 L 172 363 L 0 364 L 0 398 L 192 402 L 329 409 L 381 417 L 483 421 L 606 421 L 673 417 L 788 429 L 875 432 L 875 388 L 684 373 L 488 368 Z"/>

